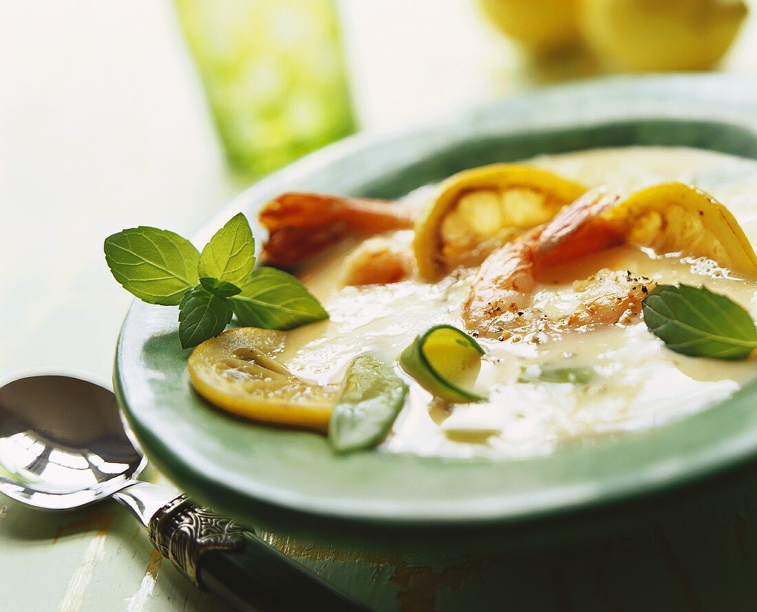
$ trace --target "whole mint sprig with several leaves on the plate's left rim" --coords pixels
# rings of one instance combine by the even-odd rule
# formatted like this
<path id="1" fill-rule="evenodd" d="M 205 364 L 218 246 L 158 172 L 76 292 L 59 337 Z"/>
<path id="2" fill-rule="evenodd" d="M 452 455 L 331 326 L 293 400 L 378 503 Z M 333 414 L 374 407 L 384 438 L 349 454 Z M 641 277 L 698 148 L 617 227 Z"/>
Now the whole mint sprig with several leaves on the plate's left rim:
<path id="1" fill-rule="evenodd" d="M 114 278 L 129 293 L 147 303 L 179 306 L 185 349 L 220 334 L 234 314 L 242 325 L 281 330 L 329 316 L 294 276 L 255 269 L 255 241 L 241 213 L 202 253 L 173 231 L 151 227 L 108 236 L 104 252 Z"/>

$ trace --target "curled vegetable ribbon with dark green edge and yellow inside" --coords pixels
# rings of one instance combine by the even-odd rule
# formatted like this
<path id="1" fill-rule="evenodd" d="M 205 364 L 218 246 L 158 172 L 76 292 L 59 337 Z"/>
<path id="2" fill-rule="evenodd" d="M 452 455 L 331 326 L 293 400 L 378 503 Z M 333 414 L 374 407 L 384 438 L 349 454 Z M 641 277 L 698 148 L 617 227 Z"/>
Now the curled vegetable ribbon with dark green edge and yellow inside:
<path id="1" fill-rule="evenodd" d="M 460 385 L 472 386 L 484 349 L 464 331 L 437 325 L 413 340 L 400 355 L 402 369 L 418 384 L 447 402 L 485 399 Z"/>

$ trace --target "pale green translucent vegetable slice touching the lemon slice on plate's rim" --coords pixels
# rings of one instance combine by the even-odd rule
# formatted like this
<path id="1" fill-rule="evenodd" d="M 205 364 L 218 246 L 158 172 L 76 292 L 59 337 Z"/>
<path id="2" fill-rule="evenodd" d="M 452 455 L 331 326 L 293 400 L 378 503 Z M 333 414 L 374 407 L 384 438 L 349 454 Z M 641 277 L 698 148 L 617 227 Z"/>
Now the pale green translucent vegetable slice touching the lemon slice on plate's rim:
<path id="1" fill-rule="evenodd" d="M 357 356 L 341 386 L 329 421 L 336 452 L 369 449 L 381 442 L 405 402 L 407 385 L 391 368 L 364 353 Z"/>

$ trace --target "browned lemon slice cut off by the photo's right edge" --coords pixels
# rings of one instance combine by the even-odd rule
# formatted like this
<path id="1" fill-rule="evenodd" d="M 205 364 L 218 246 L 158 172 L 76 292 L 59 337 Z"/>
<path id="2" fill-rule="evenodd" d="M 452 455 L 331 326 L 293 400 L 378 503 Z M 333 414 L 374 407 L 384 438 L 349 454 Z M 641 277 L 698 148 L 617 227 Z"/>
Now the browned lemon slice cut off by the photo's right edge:
<path id="1" fill-rule="evenodd" d="M 757 278 L 757 255 L 734 216 L 714 197 L 683 183 L 637 191 L 606 213 L 626 225 L 627 241 L 657 253 L 706 257 Z"/>

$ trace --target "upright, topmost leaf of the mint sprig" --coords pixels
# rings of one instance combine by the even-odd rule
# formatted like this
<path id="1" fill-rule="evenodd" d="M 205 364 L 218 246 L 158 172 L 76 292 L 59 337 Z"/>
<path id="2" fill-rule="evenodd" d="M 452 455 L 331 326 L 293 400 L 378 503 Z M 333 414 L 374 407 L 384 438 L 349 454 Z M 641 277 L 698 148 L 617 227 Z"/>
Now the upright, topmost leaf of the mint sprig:
<path id="1" fill-rule="evenodd" d="M 220 228 L 200 255 L 198 274 L 238 287 L 245 284 L 255 266 L 255 240 L 247 218 L 239 213 Z"/>

